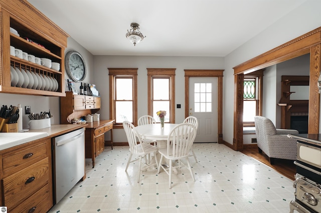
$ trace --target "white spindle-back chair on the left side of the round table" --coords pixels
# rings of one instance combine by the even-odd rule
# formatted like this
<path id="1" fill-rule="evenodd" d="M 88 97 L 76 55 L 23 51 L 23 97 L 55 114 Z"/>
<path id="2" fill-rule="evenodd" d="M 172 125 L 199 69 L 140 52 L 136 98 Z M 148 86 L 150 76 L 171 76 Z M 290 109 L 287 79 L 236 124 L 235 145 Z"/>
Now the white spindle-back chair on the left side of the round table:
<path id="1" fill-rule="evenodd" d="M 157 148 L 153 145 L 150 145 L 149 143 L 142 142 L 138 132 L 135 130 L 135 126 L 131 122 L 125 120 L 125 121 L 123 121 L 122 125 L 124 127 L 125 132 L 126 132 L 126 136 L 127 136 L 127 140 L 128 140 L 128 144 L 129 144 L 129 151 L 130 151 L 130 155 L 129 155 L 129 158 L 127 161 L 125 171 L 127 171 L 129 163 L 138 160 L 139 161 L 139 169 L 138 169 L 137 182 L 139 182 L 140 171 L 147 169 L 151 165 L 154 165 L 154 163 L 147 164 L 147 162 L 146 162 L 146 163 L 144 163 L 145 166 L 142 168 L 141 164 L 143 162 L 142 162 L 141 158 L 145 157 L 145 159 L 146 159 L 147 154 L 154 153 L 154 158 L 155 158 L 155 162 L 157 165 L 158 164 L 157 157 L 156 157 Z M 131 157 L 133 154 L 138 155 L 138 158 L 131 160 Z"/>

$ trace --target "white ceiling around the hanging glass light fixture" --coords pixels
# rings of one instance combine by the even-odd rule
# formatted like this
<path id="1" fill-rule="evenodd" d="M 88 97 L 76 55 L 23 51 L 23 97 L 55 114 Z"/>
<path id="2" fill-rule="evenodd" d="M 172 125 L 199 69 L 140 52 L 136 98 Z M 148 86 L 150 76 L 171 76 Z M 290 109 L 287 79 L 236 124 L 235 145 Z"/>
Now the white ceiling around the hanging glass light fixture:
<path id="1" fill-rule="evenodd" d="M 304 1 L 29 0 L 93 55 L 166 56 L 226 56 Z"/>

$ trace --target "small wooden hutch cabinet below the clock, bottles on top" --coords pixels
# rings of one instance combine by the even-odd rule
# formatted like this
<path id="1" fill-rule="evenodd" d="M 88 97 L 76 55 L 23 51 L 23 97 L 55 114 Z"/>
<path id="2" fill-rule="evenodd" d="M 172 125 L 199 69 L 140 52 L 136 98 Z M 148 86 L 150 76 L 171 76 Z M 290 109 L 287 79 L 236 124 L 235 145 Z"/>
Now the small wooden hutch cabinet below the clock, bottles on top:
<path id="1" fill-rule="evenodd" d="M 65 97 L 60 97 L 60 123 L 69 124 L 68 120 L 92 114 L 100 109 L 100 97 L 74 94 L 66 91 Z"/>

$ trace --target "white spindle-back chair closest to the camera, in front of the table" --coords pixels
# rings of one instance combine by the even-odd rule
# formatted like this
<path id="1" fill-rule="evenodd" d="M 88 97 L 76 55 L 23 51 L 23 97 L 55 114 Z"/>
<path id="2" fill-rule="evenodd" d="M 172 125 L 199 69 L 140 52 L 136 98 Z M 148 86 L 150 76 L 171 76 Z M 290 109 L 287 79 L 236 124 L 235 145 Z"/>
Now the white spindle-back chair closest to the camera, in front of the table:
<path id="1" fill-rule="evenodd" d="M 188 156 L 190 155 L 190 150 L 193 145 L 196 136 L 196 127 L 191 123 L 181 123 L 177 125 L 169 134 L 167 139 L 167 148 L 160 148 L 158 152 L 161 154 L 161 160 L 159 160 L 157 173 L 164 169 L 164 171 L 169 175 L 169 187 L 172 188 L 172 172 L 173 168 L 182 167 L 184 165 L 189 169 L 193 181 L 195 177 L 191 168 L 191 164 Z M 162 165 L 163 158 L 167 158 L 170 161 L 170 166 Z M 186 159 L 187 165 L 181 160 Z M 179 161 L 177 166 L 173 166 L 173 160 Z"/>

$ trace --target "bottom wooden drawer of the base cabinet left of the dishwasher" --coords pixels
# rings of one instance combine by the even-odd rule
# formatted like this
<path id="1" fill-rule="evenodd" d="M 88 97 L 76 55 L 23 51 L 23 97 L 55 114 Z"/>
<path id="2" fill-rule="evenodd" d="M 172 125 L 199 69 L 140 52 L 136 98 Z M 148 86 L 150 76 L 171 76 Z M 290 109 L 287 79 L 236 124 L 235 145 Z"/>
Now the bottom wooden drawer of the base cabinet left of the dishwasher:
<path id="1" fill-rule="evenodd" d="M 46 184 L 14 209 L 8 207 L 8 212 L 47 212 L 53 206 L 51 194 L 50 185 Z"/>

